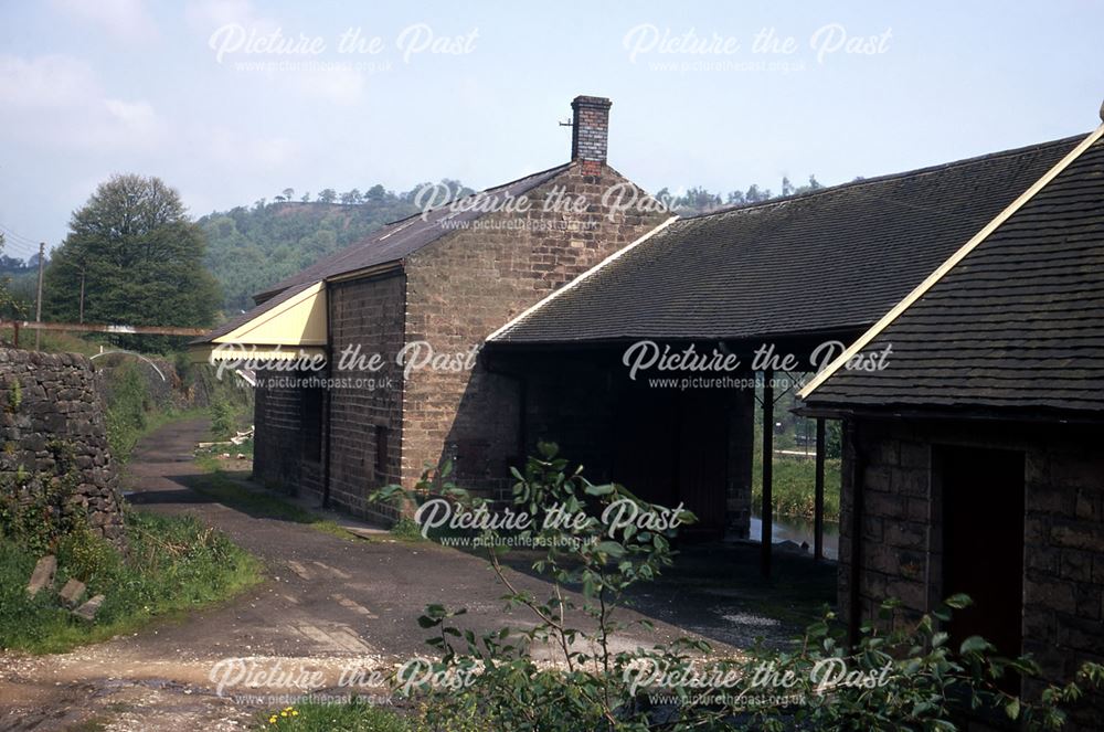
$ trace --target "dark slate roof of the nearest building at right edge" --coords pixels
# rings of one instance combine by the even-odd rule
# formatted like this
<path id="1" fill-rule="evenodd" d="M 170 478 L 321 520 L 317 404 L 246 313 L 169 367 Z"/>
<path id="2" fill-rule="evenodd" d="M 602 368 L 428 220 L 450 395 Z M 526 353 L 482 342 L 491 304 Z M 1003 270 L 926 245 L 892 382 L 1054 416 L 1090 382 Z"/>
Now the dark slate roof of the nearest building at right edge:
<path id="1" fill-rule="evenodd" d="M 840 370 L 813 409 L 1104 413 L 1104 140 L 998 226 Z"/>

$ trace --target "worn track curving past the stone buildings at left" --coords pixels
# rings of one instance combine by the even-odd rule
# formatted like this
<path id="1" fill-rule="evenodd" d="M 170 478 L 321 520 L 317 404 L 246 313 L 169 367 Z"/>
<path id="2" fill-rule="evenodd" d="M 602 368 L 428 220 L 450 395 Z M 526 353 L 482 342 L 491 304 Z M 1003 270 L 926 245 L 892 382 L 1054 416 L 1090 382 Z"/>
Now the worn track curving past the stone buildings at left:
<path id="1" fill-rule="evenodd" d="M 0 730 L 244 729 L 297 687 L 346 693 L 338 683 L 348 668 L 390 669 L 426 655 L 415 618 L 428 603 L 467 607 L 465 625 L 477 633 L 529 623 L 521 611 L 503 611 L 502 587 L 475 556 L 429 543 L 343 540 L 191 490 L 202 479 L 191 450 L 205 429 L 178 422 L 145 441 L 130 466 L 132 502 L 197 514 L 259 556 L 266 581 L 221 607 L 71 654 L 0 655 Z M 548 596 L 539 580 L 514 573 L 513 581 Z M 618 643 L 650 646 L 677 635 L 659 623 L 655 635 Z M 248 668 L 276 678 L 217 693 L 213 670 Z"/>

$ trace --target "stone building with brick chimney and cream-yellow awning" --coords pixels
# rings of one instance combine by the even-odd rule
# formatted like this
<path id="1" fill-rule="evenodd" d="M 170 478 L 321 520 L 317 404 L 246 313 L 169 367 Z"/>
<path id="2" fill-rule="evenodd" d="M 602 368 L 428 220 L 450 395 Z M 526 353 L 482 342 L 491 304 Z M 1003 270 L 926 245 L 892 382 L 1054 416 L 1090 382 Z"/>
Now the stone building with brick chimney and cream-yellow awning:
<path id="1" fill-rule="evenodd" d="M 257 295 L 256 308 L 197 343 L 225 351 L 215 358 L 240 354 L 236 343 L 327 359 L 321 372 L 261 374 L 259 479 L 362 513 L 383 511 L 365 502 L 374 488 L 411 486 L 446 458 L 468 486 L 505 486 L 522 449 L 519 384 L 474 354 L 670 218 L 607 163 L 609 107 L 573 100 L 567 163 L 390 224 Z M 373 354 L 378 370 L 367 368 Z"/>

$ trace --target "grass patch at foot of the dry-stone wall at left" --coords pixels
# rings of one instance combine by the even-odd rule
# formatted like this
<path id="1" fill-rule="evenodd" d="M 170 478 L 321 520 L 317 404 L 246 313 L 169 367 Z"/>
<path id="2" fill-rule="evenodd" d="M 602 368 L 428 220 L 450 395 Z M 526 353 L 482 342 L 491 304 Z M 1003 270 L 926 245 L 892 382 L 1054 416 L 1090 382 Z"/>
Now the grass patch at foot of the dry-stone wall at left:
<path id="1" fill-rule="evenodd" d="M 87 597 L 106 596 L 91 624 L 62 608 L 54 591 L 29 598 L 25 587 L 39 558 L 0 538 L 0 648 L 65 651 L 227 600 L 261 581 L 256 559 L 192 517 L 131 511 L 126 528 L 127 559 L 88 532 L 59 542 L 55 588 L 75 576 L 88 585 Z"/>

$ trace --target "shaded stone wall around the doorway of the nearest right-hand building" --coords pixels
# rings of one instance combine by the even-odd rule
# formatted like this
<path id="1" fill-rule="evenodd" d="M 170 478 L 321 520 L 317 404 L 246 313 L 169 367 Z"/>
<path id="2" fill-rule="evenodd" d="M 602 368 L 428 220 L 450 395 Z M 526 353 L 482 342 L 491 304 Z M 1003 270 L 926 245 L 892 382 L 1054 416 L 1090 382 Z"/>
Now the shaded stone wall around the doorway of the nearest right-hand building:
<path id="1" fill-rule="evenodd" d="M 933 608 L 945 594 L 933 455 L 944 445 L 1017 450 L 1025 457 L 1023 650 L 1053 682 L 1071 680 L 1085 660 L 1104 661 L 1104 428 L 866 418 L 851 421 L 845 434 L 841 617 L 850 617 L 856 600 L 857 531 L 861 616 L 874 618 L 891 596 L 913 613 Z M 1026 691 L 1037 693 L 1039 685 Z M 1079 715 L 1102 711 L 1104 698 L 1095 694 Z"/>

